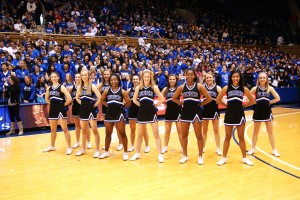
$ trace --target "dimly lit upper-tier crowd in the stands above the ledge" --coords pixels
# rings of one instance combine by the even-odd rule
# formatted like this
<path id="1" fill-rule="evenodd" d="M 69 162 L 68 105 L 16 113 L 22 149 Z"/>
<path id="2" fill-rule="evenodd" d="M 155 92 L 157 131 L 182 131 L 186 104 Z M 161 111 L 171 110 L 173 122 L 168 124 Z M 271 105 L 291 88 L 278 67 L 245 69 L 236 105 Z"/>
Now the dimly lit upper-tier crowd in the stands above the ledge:
<path id="1" fill-rule="evenodd" d="M 192 3 L 188 8 L 192 8 L 194 18 L 184 18 L 175 11 L 175 7 L 187 6 L 188 2 L 180 0 L 2 0 L 0 31 L 37 31 L 42 14 L 40 2 L 44 2 L 47 10 L 43 31 L 48 34 L 277 44 L 278 37 L 284 38 L 278 30 L 284 32 L 283 26 L 287 24 L 272 19 L 240 22 L 228 14 L 200 10 Z M 262 30 L 261 26 L 265 28 Z"/>

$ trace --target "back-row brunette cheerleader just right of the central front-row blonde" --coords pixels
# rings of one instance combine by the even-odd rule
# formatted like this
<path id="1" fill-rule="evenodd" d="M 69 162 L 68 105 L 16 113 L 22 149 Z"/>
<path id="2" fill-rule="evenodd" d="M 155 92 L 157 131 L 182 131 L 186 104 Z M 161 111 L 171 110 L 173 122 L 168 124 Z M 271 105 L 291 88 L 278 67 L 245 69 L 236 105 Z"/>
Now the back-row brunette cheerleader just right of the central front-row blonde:
<path id="1" fill-rule="evenodd" d="M 170 74 L 168 77 L 168 85 L 162 90 L 162 95 L 166 97 L 166 102 L 167 102 L 167 109 L 165 114 L 165 138 L 164 138 L 165 140 L 164 140 L 164 147 L 162 153 L 166 153 L 168 151 L 168 144 L 170 140 L 172 122 L 175 122 L 176 124 L 180 145 L 182 146 L 180 111 L 183 103 L 179 99 L 178 102 L 180 104 L 177 104 L 172 101 L 172 97 L 175 93 L 176 88 L 177 88 L 177 78 L 174 74 Z"/>

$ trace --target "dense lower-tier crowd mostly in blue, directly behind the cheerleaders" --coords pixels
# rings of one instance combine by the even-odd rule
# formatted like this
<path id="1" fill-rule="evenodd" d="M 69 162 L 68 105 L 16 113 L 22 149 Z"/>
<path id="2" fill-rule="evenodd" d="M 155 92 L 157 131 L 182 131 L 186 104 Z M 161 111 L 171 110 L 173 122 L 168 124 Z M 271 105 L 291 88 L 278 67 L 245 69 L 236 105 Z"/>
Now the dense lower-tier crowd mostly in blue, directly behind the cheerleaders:
<path id="1" fill-rule="evenodd" d="M 46 41 L 45 41 L 46 40 Z M 4 34 L 0 40 L 0 92 L 8 87 L 8 77 L 15 74 L 21 85 L 23 103 L 43 102 L 45 88 L 51 84 L 49 75 L 56 71 L 67 88 L 73 84 L 74 76 L 86 67 L 92 73 L 95 84 L 102 82 L 102 72 L 110 69 L 119 74 L 122 87 L 132 87 L 131 76 L 144 69 L 155 73 L 159 89 L 167 85 L 167 76 L 175 74 L 178 84 L 185 82 L 185 70 L 193 68 L 203 82 L 207 72 L 215 74 L 221 87 L 228 83 L 229 72 L 239 69 L 244 73 L 245 84 L 251 88 L 256 84 L 258 73 L 268 74 L 274 87 L 295 87 L 299 85 L 299 55 L 287 54 L 277 49 L 246 49 L 230 45 L 198 45 L 197 43 L 158 44 L 140 41 L 139 48 L 120 43 L 88 44 L 85 39 L 64 41 L 59 44 L 54 35 L 50 38 L 13 40 Z M 2 102 L 5 96 L 2 97 Z"/>

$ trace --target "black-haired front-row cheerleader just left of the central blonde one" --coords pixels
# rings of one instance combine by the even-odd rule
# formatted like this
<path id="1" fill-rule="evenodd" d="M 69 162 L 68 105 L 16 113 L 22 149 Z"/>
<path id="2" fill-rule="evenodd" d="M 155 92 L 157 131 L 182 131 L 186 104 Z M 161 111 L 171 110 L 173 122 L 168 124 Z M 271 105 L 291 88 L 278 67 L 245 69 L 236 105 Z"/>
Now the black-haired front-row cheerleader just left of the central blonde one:
<path id="1" fill-rule="evenodd" d="M 130 99 L 126 91 L 121 88 L 121 79 L 118 75 L 112 74 L 109 77 L 109 83 L 109 89 L 105 90 L 101 97 L 102 103 L 107 105 L 107 110 L 105 116 L 105 151 L 99 158 L 106 158 L 109 156 L 108 149 L 111 143 L 113 127 L 115 125 L 122 138 L 122 144 L 124 146 L 123 160 L 125 161 L 128 160 L 128 153 L 123 108 L 130 105 Z M 123 104 L 123 99 L 125 100 L 125 104 Z"/>

